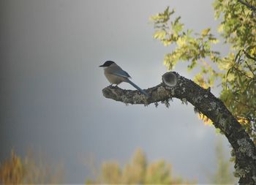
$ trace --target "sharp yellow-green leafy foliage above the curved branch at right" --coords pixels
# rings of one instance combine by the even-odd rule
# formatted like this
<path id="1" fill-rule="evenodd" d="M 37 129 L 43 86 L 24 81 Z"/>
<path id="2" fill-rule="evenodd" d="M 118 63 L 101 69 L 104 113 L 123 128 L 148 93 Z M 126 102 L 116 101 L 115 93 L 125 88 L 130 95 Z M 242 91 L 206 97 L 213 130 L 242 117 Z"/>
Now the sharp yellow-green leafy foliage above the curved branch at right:
<path id="1" fill-rule="evenodd" d="M 256 6 L 255 0 L 246 2 Z M 201 33 L 184 29 L 181 17 L 172 18 L 175 11 L 169 7 L 151 16 L 154 38 L 175 46 L 165 55 L 167 69 L 187 61 L 189 70 L 200 69 L 195 82 L 203 88 L 222 81 L 220 98 L 256 143 L 256 12 L 240 1 L 215 0 L 213 7 L 221 20 L 219 36 L 230 46 L 227 55 L 214 50 L 219 40 L 210 28 Z"/>

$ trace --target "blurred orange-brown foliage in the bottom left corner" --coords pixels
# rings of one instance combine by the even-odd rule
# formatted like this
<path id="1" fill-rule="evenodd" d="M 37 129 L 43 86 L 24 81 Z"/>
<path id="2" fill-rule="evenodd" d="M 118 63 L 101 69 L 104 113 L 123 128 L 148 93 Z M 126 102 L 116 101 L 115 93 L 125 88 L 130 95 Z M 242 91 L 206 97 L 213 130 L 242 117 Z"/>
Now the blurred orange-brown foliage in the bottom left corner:
<path id="1" fill-rule="evenodd" d="M 10 159 L 0 164 L 1 184 L 57 184 L 63 179 L 61 167 L 50 167 L 42 159 L 21 159 L 12 151 Z"/>

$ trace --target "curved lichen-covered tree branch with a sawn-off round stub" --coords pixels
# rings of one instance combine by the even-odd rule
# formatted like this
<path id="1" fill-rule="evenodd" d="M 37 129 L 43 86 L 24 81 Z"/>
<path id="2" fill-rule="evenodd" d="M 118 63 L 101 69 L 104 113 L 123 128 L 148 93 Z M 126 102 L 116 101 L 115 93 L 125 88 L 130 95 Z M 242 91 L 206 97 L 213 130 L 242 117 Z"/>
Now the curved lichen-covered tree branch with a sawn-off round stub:
<path id="1" fill-rule="evenodd" d="M 139 91 L 124 90 L 108 86 L 102 89 L 106 98 L 125 104 L 142 104 L 165 102 L 169 104 L 172 98 L 190 102 L 195 109 L 213 121 L 214 127 L 221 130 L 233 147 L 235 156 L 235 173 L 239 184 L 256 184 L 256 148 L 249 135 L 241 127 L 236 118 L 227 110 L 223 102 L 211 94 L 210 89 L 204 89 L 192 80 L 178 75 L 177 72 L 166 72 L 162 75 L 162 83 L 146 89 L 151 95 L 147 98 Z"/>

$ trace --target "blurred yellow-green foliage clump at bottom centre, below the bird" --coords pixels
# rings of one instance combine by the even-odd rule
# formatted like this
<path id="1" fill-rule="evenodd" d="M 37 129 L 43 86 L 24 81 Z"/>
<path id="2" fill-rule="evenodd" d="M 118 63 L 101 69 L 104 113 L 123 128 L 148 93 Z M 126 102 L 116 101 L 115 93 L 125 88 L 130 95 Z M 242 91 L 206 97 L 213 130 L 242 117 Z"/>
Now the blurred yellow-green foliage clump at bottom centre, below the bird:
<path id="1" fill-rule="evenodd" d="M 180 177 L 173 177 L 171 165 L 163 160 L 148 164 L 143 151 L 138 149 L 131 162 L 122 169 L 118 162 L 102 164 L 98 180 L 86 184 L 192 184 Z"/>

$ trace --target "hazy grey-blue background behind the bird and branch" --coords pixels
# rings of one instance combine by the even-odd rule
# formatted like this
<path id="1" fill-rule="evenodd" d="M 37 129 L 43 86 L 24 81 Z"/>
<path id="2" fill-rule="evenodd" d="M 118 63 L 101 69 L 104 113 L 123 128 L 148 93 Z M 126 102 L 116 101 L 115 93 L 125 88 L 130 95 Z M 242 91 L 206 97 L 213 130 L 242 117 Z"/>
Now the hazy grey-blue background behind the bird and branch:
<path id="1" fill-rule="evenodd" d="M 30 148 L 63 162 L 67 183 L 82 184 L 91 175 L 86 159 L 124 164 L 142 148 L 149 161 L 165 159 L 174 174 L 207 183 L 217 170 L 214 127 L 178 99 L 170 108 L 105 99 L 102 88 L 109 83 L 98 66 L 113 60 L 141 88 L 157 85 L 171 48 L 152 38 L 148 18 L 170 5 L 187 28 L 216 31 L 211 3 L 1 0 L 0 160 L 12 148 L 21 156 Z M 192 78 L 186 64 L 175 70 Z"/>

